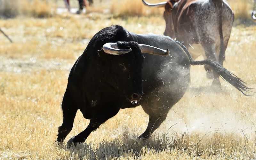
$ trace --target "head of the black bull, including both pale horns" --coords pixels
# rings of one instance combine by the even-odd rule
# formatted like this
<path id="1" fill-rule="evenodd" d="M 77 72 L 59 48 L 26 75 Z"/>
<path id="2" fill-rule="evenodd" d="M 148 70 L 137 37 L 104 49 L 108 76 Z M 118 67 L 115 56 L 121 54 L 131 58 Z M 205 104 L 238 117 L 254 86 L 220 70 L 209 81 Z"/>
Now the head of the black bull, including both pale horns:
<path id="1" fill-rule="evenodd" d="M 100 50 L 100 54 L 113 55 L 111 56 L 108 83 L 132 103 L 137 103 L 143 95 L 142 66 L 144 56 L 142 53 L 169 55 L 169 50 L 166 51 L 132 41 L 106 43 L 102 48 L 104 52 Z"/>

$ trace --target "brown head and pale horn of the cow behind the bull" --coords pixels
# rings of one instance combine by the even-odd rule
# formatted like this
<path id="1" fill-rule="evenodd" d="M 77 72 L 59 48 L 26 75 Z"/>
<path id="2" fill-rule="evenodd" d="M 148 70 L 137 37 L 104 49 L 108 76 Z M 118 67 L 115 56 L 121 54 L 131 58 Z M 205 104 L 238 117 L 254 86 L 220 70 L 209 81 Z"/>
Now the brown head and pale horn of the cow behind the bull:
<path id="1" fill-rule="evenodd" d="M 171 13 L 172 13 L 173 5 L 178 1 L 179 0 L 168 0 L 167 2 L 151 4 L 151 3 L 148 3 L 148 2 L 145 2 L 144 0 L 142 0 L 142 2 L 149 7 L 164 7 L 165 8 L 164 20 L 165 20 L 166 25 L 165 25 L 164 36 L 170 36 L 171 38 L 175 38 Z"/>

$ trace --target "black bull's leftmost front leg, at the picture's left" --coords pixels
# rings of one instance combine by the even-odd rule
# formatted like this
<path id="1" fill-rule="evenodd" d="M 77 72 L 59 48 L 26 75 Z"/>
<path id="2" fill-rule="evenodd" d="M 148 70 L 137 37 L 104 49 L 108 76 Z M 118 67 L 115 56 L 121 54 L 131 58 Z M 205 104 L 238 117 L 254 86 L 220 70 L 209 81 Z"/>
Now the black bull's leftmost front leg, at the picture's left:
<path id="1" fill-rule="evenodd" d="M 70 94 L 66 91 L 62 100 L 63 123 L 58 128 L 59 134 L 57 140 L 55 141 L 56 144 L 63 142 L 73 128 L 73 123 L 77 112 L 77 109 L 74 108 L 73 105 L 74 104 L 71 102 Z"/>

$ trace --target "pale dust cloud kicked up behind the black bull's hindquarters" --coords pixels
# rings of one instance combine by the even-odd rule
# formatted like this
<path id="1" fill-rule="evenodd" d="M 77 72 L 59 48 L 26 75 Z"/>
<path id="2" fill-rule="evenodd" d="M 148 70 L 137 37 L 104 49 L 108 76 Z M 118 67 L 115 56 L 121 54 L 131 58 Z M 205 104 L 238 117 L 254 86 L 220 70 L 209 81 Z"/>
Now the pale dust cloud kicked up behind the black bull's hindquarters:
<path id="1" fill-rule="evenodd" d="M 203 59 L 203 56 L 200 58 Z M 175 78 L 173 69 L 178 72 Z M 212 90 L 212 79 L 206 79 L 204 66 L 191 66 L 191 73 L 188 69 L 171 67 L 169 64 L 164 66 L 163 70 L 164 72 L 160 71 L 158 74 L 163 82 L 176 79 L 172 81 L 169 92 L 173 93 L 175 87 L 175 90 L 179 91 L 180 86 L 185 86 L 187 92 L 170 109 L 166 120 L 156 132 L 170 135 L 221 133 L 255 136 L 256 123 L 253 122 L 255 114 L 252 117 L 247 110 L 252 106 L 246 102 L 246 97 L 241 97 L 240 92 L 235 91 L 232 85 L 221 80 L 221 90 Z M 191 82 L 186 87 L 188 82 L 184 79 L 188 75 L 191 75 Z"/>

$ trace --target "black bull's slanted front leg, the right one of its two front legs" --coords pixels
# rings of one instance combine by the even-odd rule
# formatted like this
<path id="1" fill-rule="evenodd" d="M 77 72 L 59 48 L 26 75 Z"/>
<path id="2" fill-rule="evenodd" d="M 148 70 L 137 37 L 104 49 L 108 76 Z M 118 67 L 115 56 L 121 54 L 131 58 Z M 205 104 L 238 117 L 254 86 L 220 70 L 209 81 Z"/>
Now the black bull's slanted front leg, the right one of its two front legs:
<path id="1" fill-rule="evenodd" d="M 72 144 L 76 145 L 76 143 L 82 143 L 84 142 L 89 134 L 92 131 L 95 131 L 99 128 L 100 124 L 103 124 L 106 122 L 109 118 L 115 116 L 119 111 L 119 108 L 109 108 L 108 111 L 101 111 L 100 113 L 97 113 L 90 121 L 89 125 L 86 127 L 86 129 L 77 134 L 75 137 L 72 137 L 70 140 L 68 140 L 67 147 L 71 147 Z"/>

